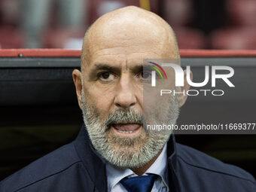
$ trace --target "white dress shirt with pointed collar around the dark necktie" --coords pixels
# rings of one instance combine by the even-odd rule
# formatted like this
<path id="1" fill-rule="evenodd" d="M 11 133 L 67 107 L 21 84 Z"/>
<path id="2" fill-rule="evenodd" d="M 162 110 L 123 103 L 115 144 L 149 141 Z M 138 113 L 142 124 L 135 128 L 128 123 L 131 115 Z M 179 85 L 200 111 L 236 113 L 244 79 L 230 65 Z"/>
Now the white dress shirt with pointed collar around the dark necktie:
<path id="1" fill-rule="evenodd" d="M 154 181 L 151 191 L 169 192 L 166 148 L 166 145 L 164 145 L 163 151 L 157 157 L 157 160 L 155 160 L 154 163 L 143 174 L 155 174 L 160 176 Z M 108 192 L 126 192 L 127 190 L 122 184 L 120 184 L 120 181 L 125 177 L 130 178 L 138 176 L 131 169 L 120 169 L 117 166 L 111 165 L 110 163 L 106 164 L 106 172 L 108 178 Z"/>

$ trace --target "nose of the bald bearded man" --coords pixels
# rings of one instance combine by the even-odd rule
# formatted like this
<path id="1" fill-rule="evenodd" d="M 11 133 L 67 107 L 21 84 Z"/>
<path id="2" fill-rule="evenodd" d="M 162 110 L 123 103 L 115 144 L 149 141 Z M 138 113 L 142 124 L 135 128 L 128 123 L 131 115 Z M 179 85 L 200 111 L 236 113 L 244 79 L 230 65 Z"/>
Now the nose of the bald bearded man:
<path id="1" fill-rule="evenodd" d="M 122 75 L 120 78 L 117 93 L 114 97 L 114 105 L 117 108 L 130 108 L 133 105 L 136 105 L 136 90 L 133 85 L 133 80 L 129 75 Z"/>

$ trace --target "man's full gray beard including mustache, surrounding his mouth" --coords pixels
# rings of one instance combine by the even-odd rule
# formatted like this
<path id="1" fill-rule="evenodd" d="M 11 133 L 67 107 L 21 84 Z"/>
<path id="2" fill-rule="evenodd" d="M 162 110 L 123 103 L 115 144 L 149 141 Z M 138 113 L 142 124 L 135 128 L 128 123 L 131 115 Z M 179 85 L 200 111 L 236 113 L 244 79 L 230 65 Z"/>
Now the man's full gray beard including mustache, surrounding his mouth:
<path id="1" fill-rule="evenodd" d="M 161 134 L 146 130 L 145 125 L 148 123 L 143 115 L 130 108 L 126 111 L 117 109 L 104 122 L 100 122 L 99 111 L 85 102 L 83 91 L 82 111 L 93 147 L 105 160 L 121 168 L 131 169 L 144 166 L 161 151 L 172 134 L 170 131 Z M 176 97 L 172 97 L 167 112 L 168 120 L 166 122 L 175 124 L 179 113 Z M 141 123 L 145 131 L 136 138 L 120 138 L 111 133 L 111 123 Z"/>

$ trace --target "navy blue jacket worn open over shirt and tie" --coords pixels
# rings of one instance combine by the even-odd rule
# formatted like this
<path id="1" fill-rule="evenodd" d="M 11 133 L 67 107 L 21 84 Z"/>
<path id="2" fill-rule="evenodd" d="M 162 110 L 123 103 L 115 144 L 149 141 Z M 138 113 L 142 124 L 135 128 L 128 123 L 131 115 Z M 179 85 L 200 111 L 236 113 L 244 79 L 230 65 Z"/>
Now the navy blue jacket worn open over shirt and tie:
<path id="1" fill-rule="evenodd" d="M 248 172 L 171 138 L 167 145 L 171 192 L 256 191 L 255 180 Z M 0 191 L 107 191 L 105 160 L 93 149 L 83 126 L 74 142 L 5 178 Z"/>

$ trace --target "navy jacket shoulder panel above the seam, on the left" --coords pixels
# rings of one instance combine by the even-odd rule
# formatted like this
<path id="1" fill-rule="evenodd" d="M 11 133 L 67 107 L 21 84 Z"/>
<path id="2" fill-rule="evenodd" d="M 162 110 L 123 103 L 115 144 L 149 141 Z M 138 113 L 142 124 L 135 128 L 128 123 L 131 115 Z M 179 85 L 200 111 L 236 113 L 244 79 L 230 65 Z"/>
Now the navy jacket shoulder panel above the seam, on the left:
<path id="1" fill-rule="evenodd" d="M 80 161 L 74 144 L 64 145 L 5 178 L 0 182 L 0 191 L 5 191 L 4 189 L 17 191 L 30 184 L 57 175 Z"/>

